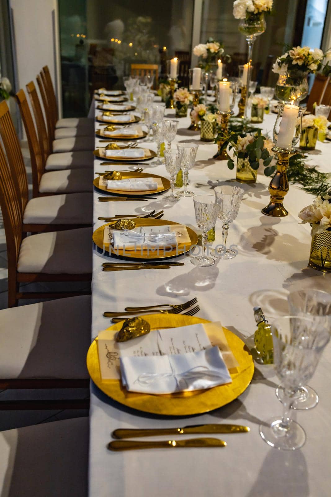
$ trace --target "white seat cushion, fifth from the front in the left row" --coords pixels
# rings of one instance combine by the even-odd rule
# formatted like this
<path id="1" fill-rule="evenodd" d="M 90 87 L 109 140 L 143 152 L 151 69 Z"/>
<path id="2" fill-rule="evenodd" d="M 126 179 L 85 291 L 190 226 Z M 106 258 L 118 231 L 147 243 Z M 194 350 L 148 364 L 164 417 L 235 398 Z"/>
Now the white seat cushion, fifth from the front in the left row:
<path id="1" fill-rule="evenodd" d="M 45 172 L 39 183 L 40 193 L 75 193 L 93 191 L 93 170 L 64 169 Z"/>

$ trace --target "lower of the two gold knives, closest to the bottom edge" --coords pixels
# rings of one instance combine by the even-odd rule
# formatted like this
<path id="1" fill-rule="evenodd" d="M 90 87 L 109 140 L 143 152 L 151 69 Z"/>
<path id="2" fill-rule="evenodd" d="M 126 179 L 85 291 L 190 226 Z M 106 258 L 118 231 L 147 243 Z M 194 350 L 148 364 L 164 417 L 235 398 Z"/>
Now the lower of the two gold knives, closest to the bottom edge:
<path id="1" fill-rule="evenodd" d="M 219 438 L 189 438 L 187 440 L 159 440 L 157 442 L 135 442 L 132 440 L 113 440 L 107 445 L 109 450 L 162 449 L 174 447 L 226 447 Z"/>

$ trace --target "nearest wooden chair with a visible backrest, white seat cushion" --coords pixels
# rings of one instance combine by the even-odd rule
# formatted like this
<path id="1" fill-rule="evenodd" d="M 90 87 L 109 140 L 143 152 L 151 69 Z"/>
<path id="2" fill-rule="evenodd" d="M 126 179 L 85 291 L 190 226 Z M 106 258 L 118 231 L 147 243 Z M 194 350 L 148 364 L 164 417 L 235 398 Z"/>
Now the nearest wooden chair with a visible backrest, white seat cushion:
<path id="1" fill-rule="evenodd" d="M 1 102 L 0 128 L 3 119 L 8 118 L 8 114 L 3 113 L 4 105 L 6 106 L 6 103 Z M 14 149 L 8 150 L 13 156 Z M 16 159 L 20 162 L 21 158 L 17 155 Z M 8 256 L 8 307 L 15 307 L 18 299 L 59 298 L 89 293 L 20 292 L 20 283 L 90 281 L 92 228 L 24 237 L 22 224 L 24 205 L 17 195 L 19 190 L 14 184 L 13 177 L 15 177 L 14 169 L 9 168 L 0 146 L 0 207 Z M 26 181 L 26 175 L 22 174 L 22 181 Z M 22 189 L 22 195 L 27 197 L 27 189 Z M 29 226 L 25 227 L 25 230 L 31 231 Z"/>

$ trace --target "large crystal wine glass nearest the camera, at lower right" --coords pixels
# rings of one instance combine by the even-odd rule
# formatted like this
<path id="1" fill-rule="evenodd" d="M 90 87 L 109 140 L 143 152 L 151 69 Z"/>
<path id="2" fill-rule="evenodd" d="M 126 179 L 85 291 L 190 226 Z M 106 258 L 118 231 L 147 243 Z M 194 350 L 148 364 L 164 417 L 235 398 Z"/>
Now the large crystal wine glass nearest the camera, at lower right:
<path id="1" fill-rule="evenodd" d="M 291 419 L 291 405 L 295 402 L 296 389 L 315 373 L 330 333 L 312 319 L 298 316 L 275 320 L 271 332 L 274 368 L 284 385 L 283 415 L 262 423 L 260 435 L 271 447 L 294 450 L 305 443 L 306 433 Z"/>

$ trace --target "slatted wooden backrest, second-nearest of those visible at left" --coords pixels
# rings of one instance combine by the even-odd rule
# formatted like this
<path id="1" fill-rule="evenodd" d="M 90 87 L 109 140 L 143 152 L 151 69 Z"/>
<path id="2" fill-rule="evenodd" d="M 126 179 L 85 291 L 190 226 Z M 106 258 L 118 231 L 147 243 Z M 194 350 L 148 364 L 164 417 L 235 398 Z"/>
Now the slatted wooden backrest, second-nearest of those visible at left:
<path id="1" fill-rule="evenodd" d="M 15 184 L 17 198 L 21 200 L 23 215 L 29 196 L 28 180 L 21 147 L 5 101 L 0 102 L 0 135 Z"/>

